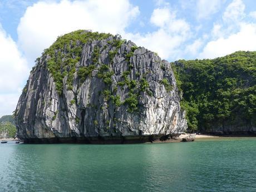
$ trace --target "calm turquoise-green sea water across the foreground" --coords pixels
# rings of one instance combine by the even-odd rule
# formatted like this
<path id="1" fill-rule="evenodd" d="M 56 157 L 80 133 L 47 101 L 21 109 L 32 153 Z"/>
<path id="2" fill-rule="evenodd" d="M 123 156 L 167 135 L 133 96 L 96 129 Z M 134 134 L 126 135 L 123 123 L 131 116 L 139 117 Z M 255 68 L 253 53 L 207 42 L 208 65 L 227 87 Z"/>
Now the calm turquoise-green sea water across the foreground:
<path id="1" fill-rule="evenodd" d="M 0 144 L 0 191 L 256 191 L 256 139 Z"/>

